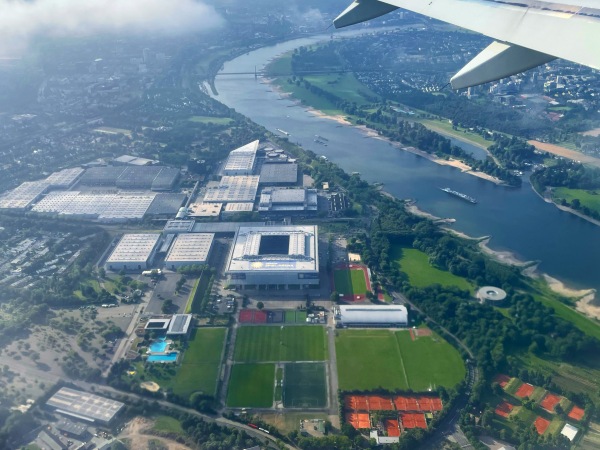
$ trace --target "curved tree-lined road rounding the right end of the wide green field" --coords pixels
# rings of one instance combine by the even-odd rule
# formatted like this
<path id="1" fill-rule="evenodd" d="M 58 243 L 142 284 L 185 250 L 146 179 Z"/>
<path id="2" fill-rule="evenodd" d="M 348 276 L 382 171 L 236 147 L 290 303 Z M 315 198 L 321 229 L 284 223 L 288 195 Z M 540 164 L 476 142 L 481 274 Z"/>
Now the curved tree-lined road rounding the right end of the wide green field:
<path id="1" fill-rule="evenodd" d="M 427 314 L 425 314 L 423 310 L 421 310 L 421 308 L 412 303 L 404 295 L 400 294 L 399 292 L 392 292 L 392 296 L 394 297 L 394 299 L 399 300 L 400 302 L 405 303 L 407 305 L 410 305 L 411 309 L 417 311 L 419 314 L 425 317 L 427 322 L 436 325 L 438 329 L 440 329 L 444 334 L 452 338 L 454 342 L 456 342 L 461 348 L 463 348 L 470 358 L 467 362 L 468 373 L 466 389 L 458 396 L 458 398 L 454 402 L 454 405 L 452 405 L 452 408 L 450 408 L 444 419 L 442 419 L 442 421 L 438 424 L 437 432 L 431 437 L 429 437 L 425 442 L 423 442 L 420 448 L 427 450 L 440 448 L 442 442 L 448 439 L 450 441 L 456 442 L 458 445 L 461 446 L 461 448 L 474 450 L 474 447 L 469 443 L 469 440 L 458 425 L 458 418 L 460 417 L 460 412 L 469 403 L 469 395 L 473 390 L 473 386 L 479 380 L 479 369 L 473 362 L 475 359 L 473 356 L 473 352 L 471 352 L 471 349 L 469 349 L 469 347 L 467 347 L 464 344 L 464 342 L 462 342 L 454 334 L 450 333 L 450 331 L 448 331 L 446 328 L 444 328 L 431 317 L 429 317 Z"/>

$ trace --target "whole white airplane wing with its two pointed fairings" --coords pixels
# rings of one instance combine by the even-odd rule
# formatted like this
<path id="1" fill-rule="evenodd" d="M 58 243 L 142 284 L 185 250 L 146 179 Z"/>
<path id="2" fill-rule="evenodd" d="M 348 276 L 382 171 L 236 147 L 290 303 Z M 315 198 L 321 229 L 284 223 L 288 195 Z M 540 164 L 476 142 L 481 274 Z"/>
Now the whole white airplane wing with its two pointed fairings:
<path id="1" fill-rule="evenodd" d="M 398 8 L 495 39 L 452 77 L 453 89 L 498 80 L 555 58 L 600 69 L 598 0 L 354 0 L 333 24 L 354 25 Z"/>

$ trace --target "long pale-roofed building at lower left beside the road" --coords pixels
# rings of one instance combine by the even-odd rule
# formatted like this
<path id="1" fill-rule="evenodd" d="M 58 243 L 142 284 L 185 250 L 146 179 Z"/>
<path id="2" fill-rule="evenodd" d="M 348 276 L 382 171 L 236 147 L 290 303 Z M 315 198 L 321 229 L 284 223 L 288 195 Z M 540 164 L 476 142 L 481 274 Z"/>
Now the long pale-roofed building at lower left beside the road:
<path id="1" fill-rule="evenodd" d="M 108 425 L 125 404 L 63 387 L 46 402 L 56 412 L 86 422 Z"/>

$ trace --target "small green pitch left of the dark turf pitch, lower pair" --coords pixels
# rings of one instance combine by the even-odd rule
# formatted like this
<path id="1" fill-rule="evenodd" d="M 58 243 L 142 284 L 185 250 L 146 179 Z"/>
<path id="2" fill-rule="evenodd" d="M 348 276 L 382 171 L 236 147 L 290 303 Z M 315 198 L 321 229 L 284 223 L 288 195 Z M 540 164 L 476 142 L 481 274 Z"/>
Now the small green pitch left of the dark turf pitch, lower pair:
<path id="1" fill-rule="evenodd" d="M 270 408 L 275 364 L 235 364 L 231 370 L 227 406 Z"/>

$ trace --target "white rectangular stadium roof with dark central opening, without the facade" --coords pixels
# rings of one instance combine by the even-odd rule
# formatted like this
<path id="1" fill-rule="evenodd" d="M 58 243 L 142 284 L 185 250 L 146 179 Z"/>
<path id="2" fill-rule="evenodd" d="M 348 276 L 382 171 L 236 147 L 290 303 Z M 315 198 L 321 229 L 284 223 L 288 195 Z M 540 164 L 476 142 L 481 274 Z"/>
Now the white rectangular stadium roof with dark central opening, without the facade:
<path id="1" fill-rule="evenodd" d="M 227 270 L 318 271 L 315 225 L 240 227 Z"/>

